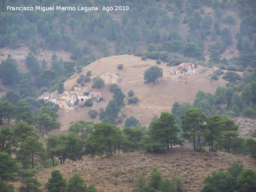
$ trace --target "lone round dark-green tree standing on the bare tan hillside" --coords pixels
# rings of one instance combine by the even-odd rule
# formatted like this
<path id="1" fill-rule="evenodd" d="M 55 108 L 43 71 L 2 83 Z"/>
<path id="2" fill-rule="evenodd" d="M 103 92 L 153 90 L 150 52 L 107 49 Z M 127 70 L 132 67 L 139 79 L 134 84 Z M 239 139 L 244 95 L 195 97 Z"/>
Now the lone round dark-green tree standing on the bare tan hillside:
<path id="1" fill-rule="evenodd" d="M 157 66 L 151 66 L 144 72 L 143 76 L 145 80 L 144 84 L 156 84 L 159 78 L 163 78 L 163 69 Z"/>

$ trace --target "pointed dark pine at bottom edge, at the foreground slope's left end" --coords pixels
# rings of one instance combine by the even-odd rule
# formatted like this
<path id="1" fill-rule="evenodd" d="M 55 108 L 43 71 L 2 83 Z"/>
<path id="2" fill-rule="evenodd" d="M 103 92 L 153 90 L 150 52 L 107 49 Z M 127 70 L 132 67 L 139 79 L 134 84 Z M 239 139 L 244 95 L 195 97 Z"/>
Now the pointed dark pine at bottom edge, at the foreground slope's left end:
<path id="1" fill-rule="evenodd" d="M 48 182 L 45 183 L 45 187 L 48 189 L 49 192 L 64 192 L 67 183 L 66 179 L 63 178 L 63 175 L 60 173 L 59 170 L 53 170 L 51 172 L 51 178 L 48 179 Z"/>

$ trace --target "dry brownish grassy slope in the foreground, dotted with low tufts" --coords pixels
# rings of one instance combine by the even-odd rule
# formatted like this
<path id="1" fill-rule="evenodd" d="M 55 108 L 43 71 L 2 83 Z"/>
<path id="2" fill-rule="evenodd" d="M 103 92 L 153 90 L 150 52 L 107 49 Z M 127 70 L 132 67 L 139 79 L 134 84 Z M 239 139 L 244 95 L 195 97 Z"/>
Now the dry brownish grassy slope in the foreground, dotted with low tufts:
<path id="1" fill-rule="evenodd" d="M 256 170 L 255 160 L 244 156 L 224 152 L 198 153 L 190 148 L 172 148 L 161 155 L 135 152 L 117 154 L 110 158 L 84 158 L 82 161 L 41 170 L 37 178 L 44 188 L 52 170 L 59 169 L 66 179 L 74 173 L 79 173 L 86 184 L 94 184 L 98 192 L 133 192 L 136 191 L 136 176 L 142 172 L 148 183 L 150 172 L 157 168 L 163 178 L 174 180 L 176 177 L 182 177 L 185 182 L 184 192 L 196 192 L 204 186 L 206 175 L 213 171 L 226 171 L 233 162 Z"/>

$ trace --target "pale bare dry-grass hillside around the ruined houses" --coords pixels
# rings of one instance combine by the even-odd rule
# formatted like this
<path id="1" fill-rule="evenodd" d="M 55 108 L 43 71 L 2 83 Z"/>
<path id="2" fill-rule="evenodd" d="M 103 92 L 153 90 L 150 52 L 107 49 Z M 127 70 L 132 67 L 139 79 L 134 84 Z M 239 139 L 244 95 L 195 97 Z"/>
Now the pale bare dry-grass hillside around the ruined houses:
<path id="1" fill-rule="evenodd" d="M 123 64 L 124 68 L 118 70 L 117 66 L 119 64 Z M 160 116 L 161 112 L 171 112 L 174 101 L 179 101 L 180 103 L 185 101 L 193 102 L 198 90 L 204 90 L 206 93 L 214 94 L 215 89 L 218 86 L 224 86 L 225 83 L 227 83 L 221 78 L 217 81 L 211 81 L 210 77 L 202 78 L 202 76 L 179 76 L 179 78 L 177 78 L 177 76 L 170 76 L 170 70 L 173 67 L 167 67 L 165 63 L 162 63 L 158 66 L 163 69 L 163 78 L 160 79 L 156 85 L 146 85 L 143 83 L 143 73 L 152 65 L 157 65 L 156 60 L 141 61 L 140 57 L 120 55 L 97 60 L 86 66 L 81 74 L 86 75 L 86 72 L 89 70 L 92 71 L 91 78 L 102 76 L 108 72 L 119 74 L 121 82 L 118 83 L 118 86 L 126 95 L 126 106 L 121 109 L 122 113 L 127 117 L 134 116 L 142 125 L 148 125 L 155 114 Z M 75 74 L 64 83 L 67 91 L 71 91 L 73 85 L 77 84 L 76 79 L 78 77 L 79 75 Z M 61 130 L 67 130 L 70 121 L 79 119 L 100 122 L 98 117 L 91 119 L 88 115 L 88 111 L 95 109 L 99 113 L 100 108 L 105 109 L 108 101 L 112 99 L 113 93 L 109 92 L 107 84 L 100 89 L 92 89 L 91 81 L 88 84 L 85 84 L 84 87 L 90 88 L 91 92 L 101 92 L 105 101 L 94 104 L 93 107 L 78 107 L 59 110 L 59 117 L 57 120 L 62 124 Z M 139 98 L 139 102 L 135 105 L 127 105 L 127 92 L 131 89 L 134 91 L 135 96 Z M 125 119 L 126 118 L 124 118 L 123 122 L 118 124 L 118 126 L 122 128 Z"/>

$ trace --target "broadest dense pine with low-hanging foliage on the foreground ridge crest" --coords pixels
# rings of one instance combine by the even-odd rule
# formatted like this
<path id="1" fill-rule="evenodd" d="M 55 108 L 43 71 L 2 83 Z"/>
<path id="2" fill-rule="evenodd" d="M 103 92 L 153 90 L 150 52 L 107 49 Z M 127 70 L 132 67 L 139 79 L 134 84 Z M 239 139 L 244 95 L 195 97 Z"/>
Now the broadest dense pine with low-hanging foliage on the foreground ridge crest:
<path id="1" fill-rule="evenodd" d="M 147 151 L 161 153 L 172 148 L 172 144 L 180 144 L 179 132 L 175 116 L 168 112 L 161 113 L 159 119 L 151 122 L 147 135 L 141 140 L 141 146 Z"/>

